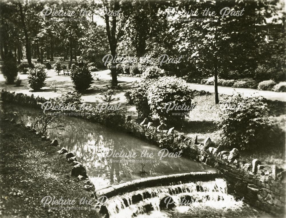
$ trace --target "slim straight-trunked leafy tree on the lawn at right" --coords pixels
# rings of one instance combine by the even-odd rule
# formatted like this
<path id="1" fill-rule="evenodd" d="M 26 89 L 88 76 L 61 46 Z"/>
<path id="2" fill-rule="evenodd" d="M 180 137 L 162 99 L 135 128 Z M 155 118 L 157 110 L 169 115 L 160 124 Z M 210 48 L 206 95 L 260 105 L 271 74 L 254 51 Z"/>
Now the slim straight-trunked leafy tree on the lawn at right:
<path id="1" fill-rule="evenodd" d="M 192 20 L 175 19 L 170 28 L 180 39 L 178 50 L 188 54 L 189 61 L 197 68 L 212 70 L 215 103 L 219 103 L 219 70 L 243 70 L 255 65 L 257 49 L 265 37 L 256 27 L 270 16 L 271 4 L 266 1 L 199 1 L 181 2 L 178 8 L 182 11 L 198 9 L 197 16 L 190 17 Z M 236 11 L 236 16 L 231 16 L 230 10 Z"/>

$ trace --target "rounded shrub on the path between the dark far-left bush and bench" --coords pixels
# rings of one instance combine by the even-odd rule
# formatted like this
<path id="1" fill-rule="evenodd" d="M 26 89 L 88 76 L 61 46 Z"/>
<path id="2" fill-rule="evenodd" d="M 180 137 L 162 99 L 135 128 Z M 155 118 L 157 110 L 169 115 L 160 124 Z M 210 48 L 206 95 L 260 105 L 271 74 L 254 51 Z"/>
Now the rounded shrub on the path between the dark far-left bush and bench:
<path id="1" fill-rule="evenodd" d="M 41 64 L 35 64 L 33 69 L 28 71 L 29 75 L 27 82 L 29 87 L 34 91 L 41 89 L 45 86 L 45 80 L 47 78 L 47 73 Z"/>

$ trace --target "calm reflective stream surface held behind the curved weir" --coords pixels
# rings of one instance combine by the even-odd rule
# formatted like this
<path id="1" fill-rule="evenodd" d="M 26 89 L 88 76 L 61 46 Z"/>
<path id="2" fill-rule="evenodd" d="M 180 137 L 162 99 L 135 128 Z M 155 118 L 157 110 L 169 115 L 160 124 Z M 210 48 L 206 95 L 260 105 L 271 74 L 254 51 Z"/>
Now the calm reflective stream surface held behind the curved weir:
<path id="1" fill-rule="evenodd" d="M 13 117 L 17 121 L 22 119 L 27 124 L 33 123 L 39 113 L 38 110 L 26 107 L 2 105 L 2 108 L 4 112 L 8 112 L 5 116 Z M 183 157 L 160 159 L 158 152 L 161 148 L 134 138 L 128 133 L 114 131 L 80 118 L 63 116 L 61 119 L 65 125 L 64 130 L 51 126 L 52 129 L 48 130 L 50 138 L 57 138 L 61 147 L 66 147 L 68 151 L 76 154 L 78 161 L 86 166 L 88 176 L 98 189 L 140 178 L 142 163 L 145 164 L 146 176 L 214 170 Z M 116 152 L 136 156 L 130 158 L 110 155 Z"/>

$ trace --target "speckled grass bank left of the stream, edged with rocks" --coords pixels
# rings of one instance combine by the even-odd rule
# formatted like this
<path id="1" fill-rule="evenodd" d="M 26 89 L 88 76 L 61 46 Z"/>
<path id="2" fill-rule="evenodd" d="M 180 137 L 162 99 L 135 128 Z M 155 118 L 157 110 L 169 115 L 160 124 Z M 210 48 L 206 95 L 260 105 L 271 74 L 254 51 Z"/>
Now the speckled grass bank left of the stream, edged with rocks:
<path id="1" fill-rule="evenodd" d="M 45 196 L 74 199 L 75 207 L 83 207 L 79 205 L 82 197 L 91 199 L 83 181 L 71 177 L 72 165 L 55 153 L 58 148 L 50 147 L 50 142 L 41 141 L 24 127 L 3 120 L 0 139 L 1 217 L 99 217 L 94 199 L 93 205 L 84 205 L 90 210 L 43 207 L 41 199 Z"/>

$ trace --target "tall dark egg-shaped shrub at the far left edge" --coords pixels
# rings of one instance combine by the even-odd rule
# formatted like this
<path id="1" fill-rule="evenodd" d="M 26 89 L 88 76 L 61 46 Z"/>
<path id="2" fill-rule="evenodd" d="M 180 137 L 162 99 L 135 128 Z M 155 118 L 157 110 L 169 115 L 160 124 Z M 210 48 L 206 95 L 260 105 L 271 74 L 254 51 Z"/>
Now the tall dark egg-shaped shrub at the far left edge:
<path id="1" fill-rule="evenodd" d="M 17 64 L 13 57 L 6 58 L 1 66 L 1 71 L 6 79 L 7 84 L 14 83 L 18 75 Z"/>

